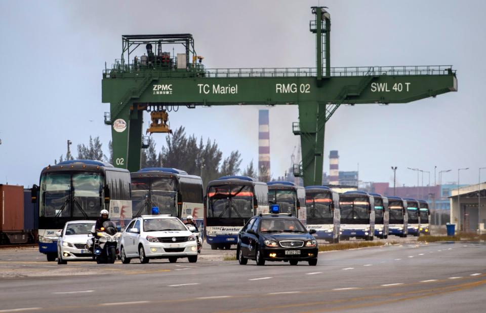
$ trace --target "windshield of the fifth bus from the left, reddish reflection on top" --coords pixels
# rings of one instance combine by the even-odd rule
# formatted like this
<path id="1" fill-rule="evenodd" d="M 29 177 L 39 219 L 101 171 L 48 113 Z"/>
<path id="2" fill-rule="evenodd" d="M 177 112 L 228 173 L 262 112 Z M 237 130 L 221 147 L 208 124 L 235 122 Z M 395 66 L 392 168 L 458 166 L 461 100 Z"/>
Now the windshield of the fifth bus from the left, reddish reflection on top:
<path id="1" fill-rule="evenodd" d="M 307 224 L 333 224 L 332 202 L 329 192 L 306 192 Z"/>

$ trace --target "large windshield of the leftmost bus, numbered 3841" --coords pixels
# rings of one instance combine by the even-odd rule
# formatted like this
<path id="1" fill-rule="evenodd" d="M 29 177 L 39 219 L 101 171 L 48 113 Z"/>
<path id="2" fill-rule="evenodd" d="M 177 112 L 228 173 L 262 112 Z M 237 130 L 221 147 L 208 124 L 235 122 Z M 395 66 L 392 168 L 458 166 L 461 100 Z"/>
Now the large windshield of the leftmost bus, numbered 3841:
<path id="1" fill-rule="evenodd" d="M 102 190 L 100 173 L 44 174 L 39 214 L 44 217 L 96 217 L 101 210 Z"/>

